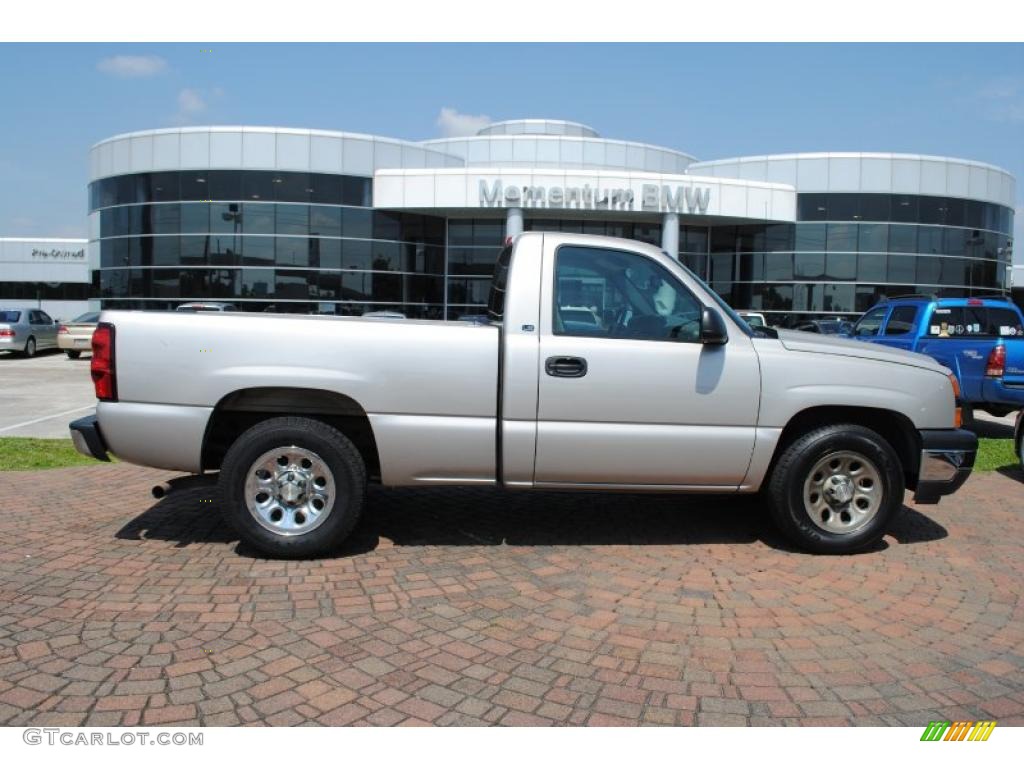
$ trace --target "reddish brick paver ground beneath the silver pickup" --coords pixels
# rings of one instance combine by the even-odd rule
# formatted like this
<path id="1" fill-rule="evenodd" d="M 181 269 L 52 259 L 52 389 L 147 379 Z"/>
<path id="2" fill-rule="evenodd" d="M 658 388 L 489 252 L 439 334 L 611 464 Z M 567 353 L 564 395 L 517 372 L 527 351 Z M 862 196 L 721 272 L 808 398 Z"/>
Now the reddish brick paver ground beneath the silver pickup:
<path id="1" fill-rule="evenodd" d="M 854 557 L 756 501 L 373 489 L 330 559 L 209 489 L 0 474 L 0 723 L 1024 725 L 1024 484 Z"/>

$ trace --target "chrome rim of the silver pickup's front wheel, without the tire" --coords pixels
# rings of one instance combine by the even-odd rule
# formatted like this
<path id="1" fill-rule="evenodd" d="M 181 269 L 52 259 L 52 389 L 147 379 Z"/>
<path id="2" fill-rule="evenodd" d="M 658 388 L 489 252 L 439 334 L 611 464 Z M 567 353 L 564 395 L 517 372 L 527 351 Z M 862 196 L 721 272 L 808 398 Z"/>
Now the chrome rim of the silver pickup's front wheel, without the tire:
<path id="1" fill-rule="evenodd" d="M 829 534 L 855 534 L 882 509 L 882 473 L 867 457 L 837 451 L 820 459 L 804 481 L 804 509 Z"/>

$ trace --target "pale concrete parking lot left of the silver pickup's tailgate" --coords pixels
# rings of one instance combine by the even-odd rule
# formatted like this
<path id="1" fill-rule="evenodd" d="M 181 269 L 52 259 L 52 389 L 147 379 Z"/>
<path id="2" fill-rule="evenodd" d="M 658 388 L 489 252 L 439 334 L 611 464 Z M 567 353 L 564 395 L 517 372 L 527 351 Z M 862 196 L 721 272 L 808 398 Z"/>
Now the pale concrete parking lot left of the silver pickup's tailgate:
<path id="1" fill-rule="evenodd" d="M 89 359 L 49 350 L 28 359 L 0 352 L 0 437 L 67 437 L 68 422 L 96 404 Z"/>

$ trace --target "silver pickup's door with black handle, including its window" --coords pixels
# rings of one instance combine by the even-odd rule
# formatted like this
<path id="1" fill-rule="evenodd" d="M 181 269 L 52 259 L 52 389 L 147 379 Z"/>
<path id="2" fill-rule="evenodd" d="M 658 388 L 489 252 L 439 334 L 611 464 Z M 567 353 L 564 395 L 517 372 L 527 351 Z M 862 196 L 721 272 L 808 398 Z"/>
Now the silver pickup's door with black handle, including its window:
<path id="1" fill-rule="evenodd" d="M 761 389 L 751 339 L 701 344 L 701 302 L 640 253 L 545 238 L 543 274 L 535 482 L 738 485 Z"/>

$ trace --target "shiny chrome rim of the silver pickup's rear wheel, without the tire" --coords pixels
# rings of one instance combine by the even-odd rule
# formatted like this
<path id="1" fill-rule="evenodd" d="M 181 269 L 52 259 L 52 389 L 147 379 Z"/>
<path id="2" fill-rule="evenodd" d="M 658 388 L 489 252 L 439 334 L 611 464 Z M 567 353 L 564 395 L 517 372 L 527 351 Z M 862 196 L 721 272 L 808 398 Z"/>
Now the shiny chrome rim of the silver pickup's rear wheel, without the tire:
<path id="1" fill-rule="evenodd" d="M 334 474 L 317 454 L 297 445 L 267 451 L 246 474 L 246 506 L 253 518 L 279 536 L 308 534 L 334 507 Z"/>

